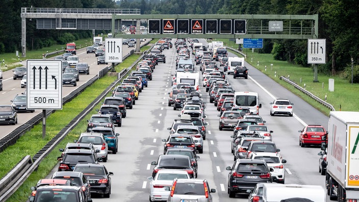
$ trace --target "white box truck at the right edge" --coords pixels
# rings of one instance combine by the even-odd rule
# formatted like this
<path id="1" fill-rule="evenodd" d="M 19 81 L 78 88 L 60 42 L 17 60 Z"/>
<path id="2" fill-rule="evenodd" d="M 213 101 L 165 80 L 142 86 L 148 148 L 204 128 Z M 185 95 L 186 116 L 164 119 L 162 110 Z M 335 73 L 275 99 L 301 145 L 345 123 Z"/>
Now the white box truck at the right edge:
<path id="1" fill-rule="evenodd" d="M 328 131 L 321 148 L 327 147 L 327 194 L 330 200 L 359 201 L 359 112 L 331 111 Z"/>

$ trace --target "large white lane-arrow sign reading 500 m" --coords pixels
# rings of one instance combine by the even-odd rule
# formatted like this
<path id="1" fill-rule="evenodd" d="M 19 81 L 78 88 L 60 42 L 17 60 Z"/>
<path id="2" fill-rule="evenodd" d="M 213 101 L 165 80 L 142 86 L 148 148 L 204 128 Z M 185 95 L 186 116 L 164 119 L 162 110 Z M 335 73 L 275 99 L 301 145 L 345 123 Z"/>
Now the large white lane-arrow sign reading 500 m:
<path id="1" fill-rule="evenodd" d="M 27 109 L 62 109 L 62 61 L 27 61 Z"/>

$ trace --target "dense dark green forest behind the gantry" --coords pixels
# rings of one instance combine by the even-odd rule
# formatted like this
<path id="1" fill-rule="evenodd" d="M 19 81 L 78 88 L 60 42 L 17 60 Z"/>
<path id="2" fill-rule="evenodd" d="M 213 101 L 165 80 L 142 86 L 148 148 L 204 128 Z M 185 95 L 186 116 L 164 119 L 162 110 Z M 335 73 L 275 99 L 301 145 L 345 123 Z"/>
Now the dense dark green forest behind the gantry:
<path id="1" fill-rule="evenodd" d="M 359 4 L 357 0 L 7 0 L 0 7 L 0 53 L 20 50 L 21 7 L 37 8 L 138 8 L 141 14 L 319 14 L 319 36 L 326 39 L 327 63 L 320 71 L 342 72 L 359 63 Z M 27 46 L 41 48 L 90 37 L 91 31 L 36 30 L 27 22 Z M 262 53 L 279 60 L 306 64 L 306 40 L 265 40 Z M 359 78 L 358 78 L 359 79 Z M 359 82 L 359 81 L 357 81 Z"/>

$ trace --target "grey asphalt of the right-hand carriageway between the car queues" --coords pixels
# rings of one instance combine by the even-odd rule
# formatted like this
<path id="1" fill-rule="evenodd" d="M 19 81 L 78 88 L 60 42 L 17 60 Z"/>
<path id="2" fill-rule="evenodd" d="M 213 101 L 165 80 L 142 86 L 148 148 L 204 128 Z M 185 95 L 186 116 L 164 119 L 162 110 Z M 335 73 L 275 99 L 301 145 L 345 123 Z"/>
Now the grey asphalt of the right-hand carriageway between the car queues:
<path id="1" fill-rule="evenodd" d="M 205 43 L 202 39 L 201 42 Z M 174 39 L 172 40 L 174 43 Z M 153 73 L 153 80 L 149 81 L 148 88 L 140 93 L 139 99 L 132 110 L 122 120 L 122 127 L 116 128 L 120 133 L 119 148 L 116 155 L 110 154 L 108 162 L 103 163 L 107 169 L 114 173 L 112 178 L 112 191 L 110 198 L 93 196 L 93 201 L 148 201 L 149 183 L 152 161 L 157 161 L 163 154 L 163 142 L 167 138 L 173 119 L 178 118 L 179 110 L 174 111 L 167 106 L 167 92 L 171 89 L 171 74 L 175 71 L 175 49 L 164 50 L 166 63 L 159 63 Z M 228 56 L 234 56 L 228 53 Z M 92 65 L 92 63 L 90 63 Z M 93 66 L 93 65 L 92 65 Z M 218 65 L 219 66 L 219 65 Z M 321 185 L 324 187 L 324 176 L 320 175 L 318 168 L 319 147 L 299 146 L 299 133 L 304 124 L 321 124 L 327 128 L 328 117 L 305 103 L 284 87 L 266 77 L 265 74 L 246 64 L 248 80 L 233 79 L 226 75 L 226 79 L 236 91 L 254 91 L 260 95 L 260 115 L 267 121 L 266 125 L 272 134 L 273 141 L 283 159 L 286 169 L 286 184 Z M 195 67 L 199 71 L 199 67 Z M 222 68 L 222 67 L 221 67 Z M 91 72 L 92 74 L 94 71 Z M 201 78 L 201 77 L 200 77 Z M 203 154 L 199 154 L 198 179 L 207 179 L 210 188 L 216 189 L 213 201 L 247 201 L 248 195 L 237 195 L 229 198 L 227 194 L 226 166 L 232 166 L 233 155 L 230 153 L 230 130 L 218 130 L 219 114 L 213 104 L 209 103 L 209 95 L 203 89 L 200 81 L 202 98 L 207 102 L 206 122 L 207 138 L 204 140 Z M 3 95 L 2 95 L 3 96 Z M 294 103 L 294 116 L 269 115 L 269 103 L 274 98 L 289 98 Z M 56 170 L 56 168 L 54 168 Z M 327 201 L 329 201 L 327 197 Z"/>

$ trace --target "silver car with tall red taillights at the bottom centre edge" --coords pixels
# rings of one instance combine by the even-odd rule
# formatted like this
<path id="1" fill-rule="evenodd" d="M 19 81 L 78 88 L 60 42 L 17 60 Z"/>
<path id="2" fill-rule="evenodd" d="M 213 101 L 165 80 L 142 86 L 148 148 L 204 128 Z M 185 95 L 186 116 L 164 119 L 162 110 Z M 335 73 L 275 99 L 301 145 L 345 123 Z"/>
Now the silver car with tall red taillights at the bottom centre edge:
<path id="1" fill-rule="evenodd" d="M 176 179 L 173 181 L 167 202 L 212 202 L 211 193 L 215 192 L 215 189 L 210 189 L 207 180 Z"/>

